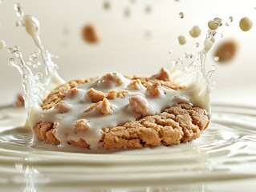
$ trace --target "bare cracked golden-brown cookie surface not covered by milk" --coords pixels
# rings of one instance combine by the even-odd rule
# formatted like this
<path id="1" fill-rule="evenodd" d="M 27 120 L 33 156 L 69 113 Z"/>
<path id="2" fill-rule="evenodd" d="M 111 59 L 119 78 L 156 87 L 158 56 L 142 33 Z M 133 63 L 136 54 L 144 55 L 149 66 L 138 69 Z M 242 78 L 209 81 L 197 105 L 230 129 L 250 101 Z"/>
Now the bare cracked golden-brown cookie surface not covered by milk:
<path id="1" fill-rule="evenodd" d="M 184 89 L 169 79 L 144 78 L 140 76 L 127 77 L 132 80 L 140 79 L 142 85 L 148 87 L 152 83 L 160 83 L 161 86 L 173 90 Z M 92 79 L 92 78 L 91 78 Z M 74 90 L 79 84 L 90 82 L 91 79 L 75 80 L 67 82 L 51 91 L 43 101 L 43 110 L 51 109 L 63 101 L 67 90 Z M 72 93 L 72 91 L 71 91 Z M 181 142 L 189 142 L 199 138 L 201 132 L 209 125 L 209 116 L 206 110 L 189 104 L 180 103 L 177 106 L 165 109 L 161 114 L 146 116 L 124 125 L 106 127 L 101 130 L 99 146 L 105 149 L 141 148 L 144 146 L 172 146 Z M 55 138 L 54 122 L 38 122 L 34 127 L 37 138 L 43 142 L 59 145 Z M 90 149 L 83 138 L 79 141 L 68 141 L 71 146 L 79 146 Z"/>

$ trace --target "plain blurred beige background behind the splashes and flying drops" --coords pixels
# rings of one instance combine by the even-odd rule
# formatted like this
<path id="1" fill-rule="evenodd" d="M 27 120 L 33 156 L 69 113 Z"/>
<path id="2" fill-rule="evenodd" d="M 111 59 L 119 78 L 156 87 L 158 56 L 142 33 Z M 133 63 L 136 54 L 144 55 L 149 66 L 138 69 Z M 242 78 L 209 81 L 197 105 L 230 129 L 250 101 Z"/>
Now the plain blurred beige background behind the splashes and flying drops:
<path id="1" fill-rule="evenodd" d="M 14 27 L 18 20 L 14 13 L 13 0 L 2 0 L 0 4 L 0 38 L 7 46 L 20 46 L 24 57 L 35 51 L 35 45 L 22 27 Z M 118 71 L 123 74 L 156 73 L 162 66 L 169 68 L 173 58 L 182 57 L 187 50 L 198 51 L 205 38 L 207 22 L 215 17 L 223 18 L 224 26 L 218 31 L 217 42 L 208 55 L 207 65 L 213 64 L 213 51 L 218 43 L 233 38 L 239 44 L 236 58 L 225 65 L 218 65 L 213 74 L 217 86 L 212 94 L 213 102 L 231 102 L 256 106 L 256 27 L 242 32 L 238 22 L 250 17 L 256 22 L 255 1 L 205 1 L 205 0 L 109 0 L 110 9 L 104 10 L 102 0 L 23 0 L 26 14 L 34 15 L 41 24 L 43 45 L 52 54 L 59 56 L 59 74 L 66 80 L 87 78 Z M 147 14 L 145 7 L 150 6 Z M 124 10 L 130 16 L 124 16 Z M 178 14 L 183 11 L 184 18 Z M 234 22 L 225 26 L 230 16 Z M 81 29 L 93 24 L 100 34 L 97 45 L 83 42 Z M 202 29 L 200 38 L 189 37 L 192 26 Z M 256 24 L 255 24 L 256 25 Z M 147 37 L 147 35 L 149 34 Z M 185 46 L 177 45 L 176 38 L 184 34 Z M 223 34 L 223 38 L 221 38 Z M 169 54 L 169 50 L 173 50 Z M 0 51 L 0 105 L 13 102 L 22 90 L 18 71 L 7 64 L 10 54 Z"/>

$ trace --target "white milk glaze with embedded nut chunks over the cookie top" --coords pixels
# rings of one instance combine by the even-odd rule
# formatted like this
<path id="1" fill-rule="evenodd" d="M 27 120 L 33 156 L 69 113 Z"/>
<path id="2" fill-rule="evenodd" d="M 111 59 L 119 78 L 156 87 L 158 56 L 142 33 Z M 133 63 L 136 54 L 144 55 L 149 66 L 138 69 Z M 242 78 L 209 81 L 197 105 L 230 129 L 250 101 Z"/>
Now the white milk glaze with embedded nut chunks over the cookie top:
<path id="1" fill-rule="evenodd" d="M 93 98 L 89 92 L 92 89 L 95 94 L 106 95 L 105 98 L 91 102 Z M 123 91 L 124 94 L 112 99 L 108 95 L 113 90 Z M 63 102 L 59 102 L 57 107 L 35 111 L 38 118 L 33 122 L 54 122 L 55 138 L 63 146 L 68 145 L 68 141 L 78 142 L 82 138 L 91 149 L 98 147 L 101 130 L 105 127 L 120 126 L 137 118 L 160 114 L 179 102 L 191 103 L 197 100 L 192 87 L 171 90 L 155 82 L 145 88 L 140 80 L 130 80 L 118 73 L 105 74 L 82 84 L 77 87 L 75 94 L 71 95 L 70 91 L 67 91 Z M 78 121 L 86 124 L 82 123 L 79 130 L 76 130 Z"/>

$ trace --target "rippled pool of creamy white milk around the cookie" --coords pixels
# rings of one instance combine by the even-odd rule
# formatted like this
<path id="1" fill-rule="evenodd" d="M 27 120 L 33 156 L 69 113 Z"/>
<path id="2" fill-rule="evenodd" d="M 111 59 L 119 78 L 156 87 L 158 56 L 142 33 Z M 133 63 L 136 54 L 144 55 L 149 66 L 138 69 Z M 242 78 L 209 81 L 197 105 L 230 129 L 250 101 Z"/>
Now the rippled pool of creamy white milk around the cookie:
<path id="1" fill-rule="evenodd" d="M 209 128 L 193 142 L 153 149 L 108 151 L 111 154 L 87 154 L 92 151 L 32 143 L 32 133 L 22 128 L 25 110 L 2 109 L 1 189 L 47 191 L 55 186 L 60 191 L 101 192 L 102 189 L 120 191 L 121 188 L 126 192 L 165 191 L 169 187 L 178 191 L 203 191 L 209 181 L 214 181 L 215 190 L 210 191 L 218 191 L 217 186 L 221 183 L 230 184 L 227 189 L 236 191 L 234 182 L 248 183 L 246 178 L 255 182 L 255 111 L 246 106 L 213 105 Z M 187 186 L 188 183 L 191 186 Z M 136 186 L 140 190 L 135 190 Z"/>

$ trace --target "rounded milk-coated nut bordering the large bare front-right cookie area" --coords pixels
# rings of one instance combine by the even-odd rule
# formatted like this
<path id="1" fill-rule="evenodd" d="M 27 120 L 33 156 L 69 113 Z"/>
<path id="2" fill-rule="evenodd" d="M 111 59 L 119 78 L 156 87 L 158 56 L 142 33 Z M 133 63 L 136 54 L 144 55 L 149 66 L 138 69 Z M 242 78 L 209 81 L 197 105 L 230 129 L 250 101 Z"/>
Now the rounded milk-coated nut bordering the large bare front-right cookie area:
<path id="1" fill-rule="evenodd" d="M 149 105 L 148 100 L 140 95 L 133 96 L 129 99 L 128 110 L 132 110 L 142 116 L 155 114 L 155 111 L 152 106 Z"/>

